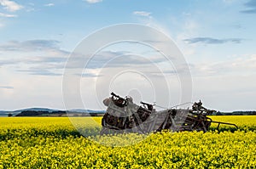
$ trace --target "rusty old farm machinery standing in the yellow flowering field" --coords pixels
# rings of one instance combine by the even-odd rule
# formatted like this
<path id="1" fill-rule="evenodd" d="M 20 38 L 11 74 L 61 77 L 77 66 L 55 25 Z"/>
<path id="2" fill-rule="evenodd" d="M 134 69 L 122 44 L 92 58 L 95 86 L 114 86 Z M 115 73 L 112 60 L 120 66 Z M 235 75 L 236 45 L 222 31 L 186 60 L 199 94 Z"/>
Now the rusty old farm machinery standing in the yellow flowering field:
<path id="1" fill-rule="evenodd" d="M 232 125 L 236 124 L 212 121 L 207 115 L 212 115 L 215 110 L 207 110 L 200 102 L 195 102 L 191 109 L 166 109 L 156 111 L 153 104 L 141 102 L 133 103 L 131 97 L 120 97 L 111 93 L 111 97 L 104 99 L 103 103 L 108 109 L 102 118 L 101 134 L 115 133 L 150 133 L 168 130 L 203 131 L 207 132 L 212 123 Z M 218 128 L 217 128 L 218 129 Z"/>

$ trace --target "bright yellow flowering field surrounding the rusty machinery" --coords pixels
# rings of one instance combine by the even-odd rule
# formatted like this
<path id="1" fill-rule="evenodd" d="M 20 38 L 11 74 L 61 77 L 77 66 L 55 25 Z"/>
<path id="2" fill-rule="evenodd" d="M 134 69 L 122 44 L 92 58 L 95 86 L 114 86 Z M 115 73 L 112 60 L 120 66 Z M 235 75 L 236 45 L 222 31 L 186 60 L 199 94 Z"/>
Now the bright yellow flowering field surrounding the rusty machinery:
<path id="1" fill-rule="evenodd" d="M 75 117 L 73 117 L 75 118 Z M 161 132 L 84 138 L 68 117 L 0 118 L 0 168 L 256 168 L 256 116 L 211 116 L 233 122 L 221 132 Z M 79 118 L 87 132 L 101 129 L 101 117 Z M 105 146 L 99 143 L 132 143 Z"/>

